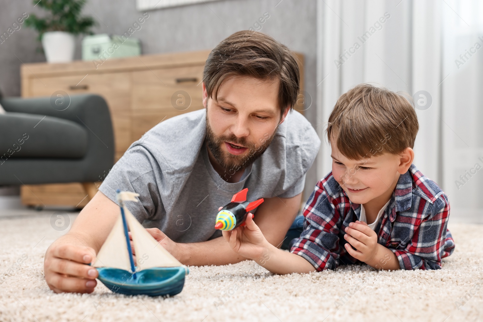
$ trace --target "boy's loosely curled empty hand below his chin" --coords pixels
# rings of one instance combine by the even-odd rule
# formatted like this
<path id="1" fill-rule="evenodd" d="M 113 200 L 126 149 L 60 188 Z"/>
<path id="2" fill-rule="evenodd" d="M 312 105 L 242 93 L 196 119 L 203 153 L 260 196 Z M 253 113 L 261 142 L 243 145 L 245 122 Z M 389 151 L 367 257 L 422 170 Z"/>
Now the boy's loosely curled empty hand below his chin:
<path id="1" fill-rule="evenodd" d="M 344 238 L 348 242 L 345 244 L 347 252 L 361 262 L 372 261 L 378 248 L 376 232 L 370 229 L 368 224 L 358 220 L 350 223 L 344 231 L 346 232 Z M 354 246 L 356 251 L 349 244 Z"/>

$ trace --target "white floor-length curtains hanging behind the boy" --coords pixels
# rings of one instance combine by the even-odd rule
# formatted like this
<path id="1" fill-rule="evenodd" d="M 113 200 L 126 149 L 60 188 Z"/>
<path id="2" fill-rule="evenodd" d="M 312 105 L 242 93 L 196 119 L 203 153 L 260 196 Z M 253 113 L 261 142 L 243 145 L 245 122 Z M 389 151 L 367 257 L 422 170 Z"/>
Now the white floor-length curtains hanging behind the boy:
<path id="1" fill-rule="evenodd" d="M 359 83 L 380 84 L 420 102 L 414 164 L 449 195 L 453 220 L 471 215 L 475 221 L 483 208 L 483 168 L 459 190 L 455 180 L 478 157 L 483 167 L 483 48 L 460 69 L 454 60 L 479 41 L 482 4 L 445 1 L 318 0 L 316 130 L 323 144 L 317 176 L 331 170 L 324 131 L 337 98 Z M 466 15 L 468 25 L 459 17 Z"/>

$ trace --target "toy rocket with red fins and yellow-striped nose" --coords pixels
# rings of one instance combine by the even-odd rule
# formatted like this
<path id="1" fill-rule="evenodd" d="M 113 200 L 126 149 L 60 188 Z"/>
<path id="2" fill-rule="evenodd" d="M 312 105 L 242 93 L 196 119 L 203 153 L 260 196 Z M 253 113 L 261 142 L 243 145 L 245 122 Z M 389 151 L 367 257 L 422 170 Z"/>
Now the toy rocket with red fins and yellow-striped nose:
<path id="1" fill-rule="evenodd" d="M 215 229 L 232 230 L 240 225 L 245 225 L 246 215 L 263 202 L 263 198 L 248 202 L 246 200 L 247 192 L 248 188 L 245 188 L 234 194 L 231 202 L 218 212 Z"/>

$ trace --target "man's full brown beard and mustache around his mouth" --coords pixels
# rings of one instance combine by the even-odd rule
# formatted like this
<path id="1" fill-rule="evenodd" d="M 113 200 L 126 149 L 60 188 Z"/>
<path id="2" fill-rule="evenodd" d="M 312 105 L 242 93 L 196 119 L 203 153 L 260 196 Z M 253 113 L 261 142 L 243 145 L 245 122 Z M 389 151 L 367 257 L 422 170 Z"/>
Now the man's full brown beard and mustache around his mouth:
<path id="1" fill-rule="evenodd" d="M 210 122 L 208 121 L 208 115 L 206 116 L 206 145 L 208 149 L 210 149 L 213 157 L 215 158 L 216 162 L 222 167 L 227 170 L 242 170 L 262 155 L 265 150 L 269 147 L 271 141 L 274 138 L 274 134 L 277 131 L 278 126 L 273 131 L 272 135 L 265 134 L 264 138 L 260 139 L 257 143 L 252 143 L 246 140 L 245 137 L 238 138 L 233 133 L 227 136 L 217 136 L 213 133 L 213 129 L 210 126 Z M 233 155 L 229 152 L 225 152 L 222 150 L 222 144 L 225 142 L 231 142 L 236 145 L 243 146 L 247 148 L 247 152 L 240 155 Z"/>

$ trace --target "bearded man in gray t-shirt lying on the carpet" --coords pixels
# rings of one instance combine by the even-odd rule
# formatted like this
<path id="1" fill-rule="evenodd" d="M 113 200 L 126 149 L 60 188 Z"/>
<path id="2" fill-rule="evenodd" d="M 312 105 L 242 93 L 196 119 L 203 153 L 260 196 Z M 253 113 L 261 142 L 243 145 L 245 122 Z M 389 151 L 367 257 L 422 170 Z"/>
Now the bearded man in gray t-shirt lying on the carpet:
<path id="1" fill-rule="evenodd" d="M 93 261 L 119 216 L 115 190 L 139 193 L 127 207 L 185 265 L 225 265 L 244 257 L 214 229 L 219 206 L 248 188 L 264 198 L 255 221 L 279 246 L 297 214 L 305 173 L 320 146 L 298 112 L 296 56 L 260 32 L 239 31 L 210 53 L 205 109 L 166 120 L 134 142 L 44 260 L 55 292 L 90 293 Z"/>

